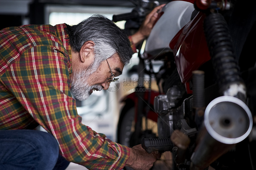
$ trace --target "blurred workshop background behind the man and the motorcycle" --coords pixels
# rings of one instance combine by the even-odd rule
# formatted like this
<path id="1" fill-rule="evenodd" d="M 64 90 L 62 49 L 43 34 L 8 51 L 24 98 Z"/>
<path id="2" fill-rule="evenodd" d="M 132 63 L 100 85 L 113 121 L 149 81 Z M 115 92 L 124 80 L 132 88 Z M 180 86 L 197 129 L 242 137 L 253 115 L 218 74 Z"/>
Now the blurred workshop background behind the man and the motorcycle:
<path id="1" fill-rule="evenodd" d="M 158 2 L 163 4 L 168 1 Z M 75 25 L 93 14 L 102 14 L 112 20 L 114 14 L 128 13 L 133 8 L 135 5 L 129 0 L 0 0 L 0 30 L 26 24 Z M 125 22 L 118 21 L 116 24 L 124 29 Z M 117 142 L 117 124 L 124 106 L 122 99 L 134 92 L 136 87 L 133 82 L 138 74 L 134 68 L 138 63 L 138 53 L 135 53 L 119 76 L 119 82 L 112 83 L 109 90 L 94 91 L 86 101 L 77 101 L 77 112 L 82 116 L 82 123 L 98 133 L 106 134 L 114 142 Z M 155 61 L 154 72 L 158 72 L 161 65 L 161 61 Z M 154 78 L 149 81 L 151 89 L 157 90 Z M 68 169 L 85 167 L 71 163 Z"/>

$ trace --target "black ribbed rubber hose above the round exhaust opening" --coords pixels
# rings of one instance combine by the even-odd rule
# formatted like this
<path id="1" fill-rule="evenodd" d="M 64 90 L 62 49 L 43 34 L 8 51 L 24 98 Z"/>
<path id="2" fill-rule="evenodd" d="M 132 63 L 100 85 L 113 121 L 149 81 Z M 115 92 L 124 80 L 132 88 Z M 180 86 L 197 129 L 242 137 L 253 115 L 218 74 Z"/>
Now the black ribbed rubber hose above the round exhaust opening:
<path id="1" fill-rule="evenodd" d="M 223 92 L 230 83 L 243 83 L 224 17 L 219 13 L 208 15 L 204 20 L 204 31 L 220 91 Z"/>

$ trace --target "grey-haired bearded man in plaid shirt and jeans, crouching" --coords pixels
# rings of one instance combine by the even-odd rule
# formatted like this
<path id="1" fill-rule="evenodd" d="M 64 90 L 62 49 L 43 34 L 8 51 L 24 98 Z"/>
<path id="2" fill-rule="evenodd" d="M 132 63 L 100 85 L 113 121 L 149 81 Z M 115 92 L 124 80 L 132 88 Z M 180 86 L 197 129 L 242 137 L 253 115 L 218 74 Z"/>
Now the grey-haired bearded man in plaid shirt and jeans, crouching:
<path id="1" fill-rule="evenodd" d="M 131 37 L 135 44 L 149 34 L 161 7 Z M 101 15 L 74 26 L 1 30 L 0 169 L 65 169 L 69 162 L 149 169 L 159 154 L 117 144 L 83 125 L 71 96 L 85 100 L 93 90 L 107 90 L 131 56 L 123 30 Z M 49 133 L 32 130 L 38 125 Z"/>

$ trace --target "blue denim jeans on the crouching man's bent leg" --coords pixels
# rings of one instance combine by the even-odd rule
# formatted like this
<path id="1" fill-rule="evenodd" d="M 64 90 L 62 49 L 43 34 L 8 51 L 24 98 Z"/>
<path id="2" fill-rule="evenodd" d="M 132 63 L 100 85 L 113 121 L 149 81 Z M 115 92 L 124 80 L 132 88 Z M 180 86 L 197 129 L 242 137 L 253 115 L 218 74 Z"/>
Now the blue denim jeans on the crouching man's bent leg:
<path id="1" fill-rule="evenodd" d="M 0 130 L 0 169 L 64 170 L 57 140 L 37 130 Z"/>

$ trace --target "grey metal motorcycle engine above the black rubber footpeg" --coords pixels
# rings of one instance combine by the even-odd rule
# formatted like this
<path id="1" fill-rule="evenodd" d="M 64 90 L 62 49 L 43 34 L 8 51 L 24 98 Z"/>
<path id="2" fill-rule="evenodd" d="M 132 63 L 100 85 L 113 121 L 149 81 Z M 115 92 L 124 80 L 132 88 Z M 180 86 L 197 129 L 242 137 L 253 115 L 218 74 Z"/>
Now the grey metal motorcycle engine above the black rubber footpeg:
<path id="1" fill-rule="evenodd" d="M 175 129 L 188 136 L 195 135 L 196 128 L 190 121 L 193 112 L 193 97 L 184 98 L 185 89 L 174 85 L 165 95 L 154 98 L 154 109 L 158 113 L 157 130 L 159 138 L 169 138 Z"/>

